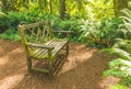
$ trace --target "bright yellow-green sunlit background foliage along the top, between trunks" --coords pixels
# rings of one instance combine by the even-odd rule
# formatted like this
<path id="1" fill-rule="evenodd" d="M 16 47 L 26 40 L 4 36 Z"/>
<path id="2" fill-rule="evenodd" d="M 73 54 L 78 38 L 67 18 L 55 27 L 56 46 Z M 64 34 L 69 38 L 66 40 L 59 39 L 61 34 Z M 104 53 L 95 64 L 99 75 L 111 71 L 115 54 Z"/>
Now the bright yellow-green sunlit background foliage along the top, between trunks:
<path id="1" fill-rule="evenodd" d="M 24 12 L 26 10 L 50 13 L 52 10 L 51 13 L 58 15 L 60 10 L 59 1 L 60 0 L 1 0 L 1 9 L 5 13 L 10 11 Z M 68 14 L 71 18 L 94 18 L 95 20 L 102 20 L 103 18 L 110 19 L 115 15 L 112 0 L 67 0 L 66 8 L 66 15 Z"/>

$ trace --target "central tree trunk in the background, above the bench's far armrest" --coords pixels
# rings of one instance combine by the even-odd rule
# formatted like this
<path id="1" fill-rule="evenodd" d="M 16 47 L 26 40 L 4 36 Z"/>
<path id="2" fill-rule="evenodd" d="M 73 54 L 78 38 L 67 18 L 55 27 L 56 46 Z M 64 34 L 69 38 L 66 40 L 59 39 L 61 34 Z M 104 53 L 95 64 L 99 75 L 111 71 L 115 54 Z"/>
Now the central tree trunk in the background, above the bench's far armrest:
<path id="1" fill-rule="evenodd" d="M 59 13 L 60 18 L 63 20 L 66 16 L 66 0 L 59 0 Z"/>

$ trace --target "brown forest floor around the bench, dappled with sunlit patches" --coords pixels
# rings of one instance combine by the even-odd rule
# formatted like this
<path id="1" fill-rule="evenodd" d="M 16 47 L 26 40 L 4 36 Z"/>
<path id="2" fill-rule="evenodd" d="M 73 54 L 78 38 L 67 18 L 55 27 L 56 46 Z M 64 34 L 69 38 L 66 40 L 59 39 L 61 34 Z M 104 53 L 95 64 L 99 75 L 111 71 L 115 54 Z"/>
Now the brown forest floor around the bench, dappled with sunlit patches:
<path id="1" fill-rule="evenodd" d="M 70 53 L 53 78 L 28 73 L 24 47 L 13 41 L 0 40 L 0 89 L 108 89 L 119 79 L 103 77 L 112 56 L 97 48 L 70 43 Z"/>

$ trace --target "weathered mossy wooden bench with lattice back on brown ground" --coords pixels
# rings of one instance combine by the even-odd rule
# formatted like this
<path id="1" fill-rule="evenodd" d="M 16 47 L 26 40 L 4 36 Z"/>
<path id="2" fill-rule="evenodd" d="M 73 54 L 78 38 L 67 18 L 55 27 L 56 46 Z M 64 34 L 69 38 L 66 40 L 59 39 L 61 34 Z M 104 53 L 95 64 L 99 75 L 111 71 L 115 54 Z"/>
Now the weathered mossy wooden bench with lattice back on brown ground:
<path id="1" fill-rule="evenodd" d="M 28 71 L 52 73 L 55 59 L 63 47 L 68 57 L 70 31 L 52 31 L 49 21 L 22 24 L 17 29 L 25 47 Z M 55 33 L 66 33 L 67 38 L 57 38 Z M 49 68 L 33 68 L 32 59 L 48 60 Z"/>

